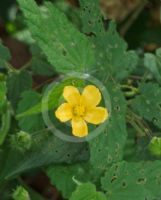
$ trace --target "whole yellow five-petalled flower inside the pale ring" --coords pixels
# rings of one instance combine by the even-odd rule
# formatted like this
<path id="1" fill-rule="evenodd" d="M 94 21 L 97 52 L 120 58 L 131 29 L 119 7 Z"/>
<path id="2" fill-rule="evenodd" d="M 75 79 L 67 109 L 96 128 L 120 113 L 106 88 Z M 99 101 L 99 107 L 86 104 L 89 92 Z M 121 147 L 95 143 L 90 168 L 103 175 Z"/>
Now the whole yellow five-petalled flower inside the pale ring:
<path id="1" fill-rule="evenodd" d="M 72 134 L 77 137 L 88 135 L 87 123 L 98 125 L 108 117 L 106 108 L 97 107 L 101 93 L 94 85 L 86 86 L 82 94 L 76 87 L 66 86 L 63 97 L 67 102 L 58 107 L 55 115 L 61 122 L 71 120 Z"/>

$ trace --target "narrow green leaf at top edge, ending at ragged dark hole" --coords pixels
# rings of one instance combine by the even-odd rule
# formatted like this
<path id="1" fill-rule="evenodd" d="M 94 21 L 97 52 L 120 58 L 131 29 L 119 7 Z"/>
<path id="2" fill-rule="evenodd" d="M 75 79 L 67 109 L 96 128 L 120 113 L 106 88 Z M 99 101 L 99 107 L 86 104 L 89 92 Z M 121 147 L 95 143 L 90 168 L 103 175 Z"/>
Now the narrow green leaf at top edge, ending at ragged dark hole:
<path id="1" fill-rule="evenodd" d="M 99 35 L 104 32 L 100 3 L 98 0 L 79 0 L 81 5 L 80 17 L 83 25 L 83 32 Z"/>

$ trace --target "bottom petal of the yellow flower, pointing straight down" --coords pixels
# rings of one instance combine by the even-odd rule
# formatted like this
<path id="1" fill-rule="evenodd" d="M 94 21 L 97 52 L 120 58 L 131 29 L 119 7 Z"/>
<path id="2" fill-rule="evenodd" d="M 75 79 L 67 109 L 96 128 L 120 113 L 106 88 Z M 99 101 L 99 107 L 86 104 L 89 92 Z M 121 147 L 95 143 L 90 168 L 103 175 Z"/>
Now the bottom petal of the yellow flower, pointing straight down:
<path id="1" fill-rule="evenodd" d="M 87 123 L 82 118 L 72 119 L 72 133 L 77 137 L 85 137 L 88 135 Z"/>

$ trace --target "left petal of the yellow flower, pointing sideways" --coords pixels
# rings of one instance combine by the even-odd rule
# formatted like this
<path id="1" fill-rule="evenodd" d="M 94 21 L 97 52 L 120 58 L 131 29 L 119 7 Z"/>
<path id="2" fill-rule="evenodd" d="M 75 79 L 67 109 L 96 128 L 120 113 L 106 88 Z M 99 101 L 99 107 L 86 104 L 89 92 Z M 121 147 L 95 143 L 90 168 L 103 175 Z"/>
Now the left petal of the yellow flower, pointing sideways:
<path id="1" fill-rule="evenodd" d="M 72 118 L 72 107 L 69 103 L 61 104 L 58 109 L 55 111 L 56 117 L 61 122 L 66 122 Z"/>

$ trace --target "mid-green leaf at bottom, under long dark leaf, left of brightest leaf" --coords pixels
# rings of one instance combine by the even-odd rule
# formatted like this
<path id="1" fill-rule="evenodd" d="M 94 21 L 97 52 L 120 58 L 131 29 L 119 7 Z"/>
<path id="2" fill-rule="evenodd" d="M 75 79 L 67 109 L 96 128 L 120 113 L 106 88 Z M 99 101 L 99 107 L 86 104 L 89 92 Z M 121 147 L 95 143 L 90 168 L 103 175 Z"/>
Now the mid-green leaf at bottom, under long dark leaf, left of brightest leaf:
<path id="1" fill-rule="evenodd" d="M 49 167 L 46 172 L 51 183 L 56 186 L 64 198 L 69 199 L 72 192 L 76 189 L 73 178 L 84 182 L 89 178 L 88 164 L 55 165 Z"/>

